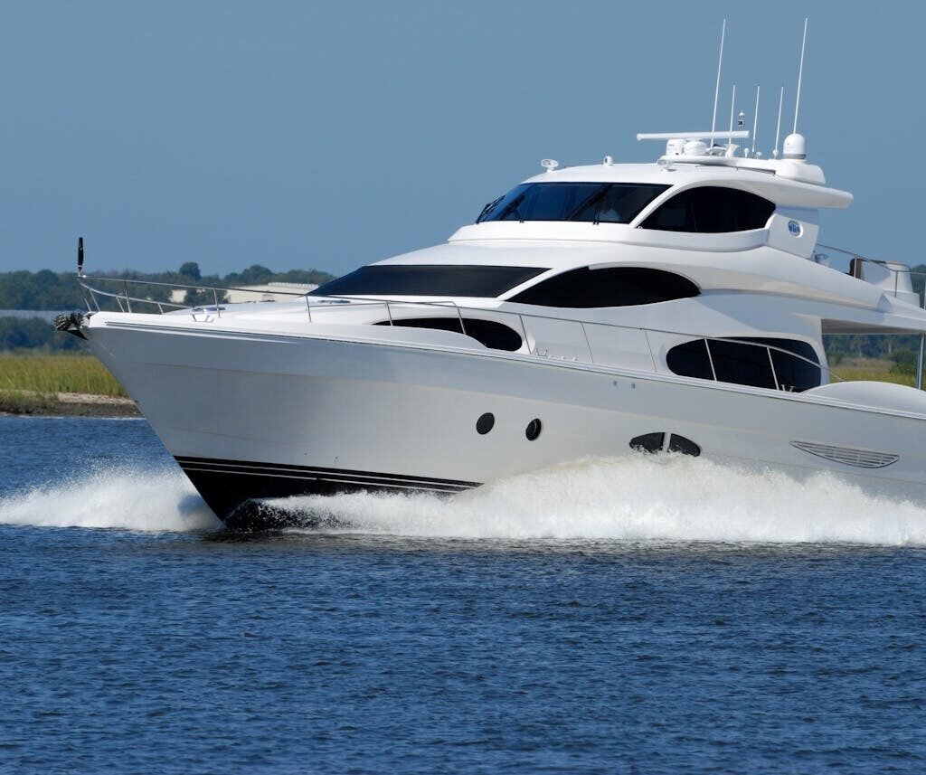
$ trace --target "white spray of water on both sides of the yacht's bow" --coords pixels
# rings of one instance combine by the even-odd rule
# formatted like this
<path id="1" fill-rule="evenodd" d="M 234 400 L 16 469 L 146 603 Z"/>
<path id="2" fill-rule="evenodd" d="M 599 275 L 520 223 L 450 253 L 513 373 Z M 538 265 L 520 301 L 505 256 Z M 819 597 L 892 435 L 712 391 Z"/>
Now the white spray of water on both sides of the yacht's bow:
<path id="1" fill-rule="evenodd" d="M 272 502 L 311 530 L 473 539 L 926 545 L 926 508 L 838 478 L 795 481 L 701 458 L 585 460 L 452 498 L 344 494 Z M 209 531 L 219 520 L 179 471 L 102 470 L 0 498 L 0 523 Z"/>

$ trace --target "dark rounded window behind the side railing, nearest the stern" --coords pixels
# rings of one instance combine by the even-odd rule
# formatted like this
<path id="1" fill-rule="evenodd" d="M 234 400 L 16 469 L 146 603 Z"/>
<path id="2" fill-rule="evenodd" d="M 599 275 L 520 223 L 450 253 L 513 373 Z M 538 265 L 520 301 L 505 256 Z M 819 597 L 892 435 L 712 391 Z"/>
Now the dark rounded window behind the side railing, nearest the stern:
<path id="1" fill-rule="evenodd" d="M 744 337 L 736 342 L 697 339 L 669 350 L 667 363 L 675 374 L 699 380 L 712 380 L 716 372 L 721 382 L 754 387 L 804 391 L 820 384 L 820 361 L 813 347 L 789 339 Z"/>

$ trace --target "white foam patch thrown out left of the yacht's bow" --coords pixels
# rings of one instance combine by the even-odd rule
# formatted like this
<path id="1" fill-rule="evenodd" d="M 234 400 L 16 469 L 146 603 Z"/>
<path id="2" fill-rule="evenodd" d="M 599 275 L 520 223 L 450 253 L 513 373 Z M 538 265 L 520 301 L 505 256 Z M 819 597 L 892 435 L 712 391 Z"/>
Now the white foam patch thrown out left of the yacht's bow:
<path id="1" fill-rule="evenodd" d="M 220 522 L 181 471 L 98 470 L 0 498 L 0 523 L 131 531 L 208 531 Z"/>

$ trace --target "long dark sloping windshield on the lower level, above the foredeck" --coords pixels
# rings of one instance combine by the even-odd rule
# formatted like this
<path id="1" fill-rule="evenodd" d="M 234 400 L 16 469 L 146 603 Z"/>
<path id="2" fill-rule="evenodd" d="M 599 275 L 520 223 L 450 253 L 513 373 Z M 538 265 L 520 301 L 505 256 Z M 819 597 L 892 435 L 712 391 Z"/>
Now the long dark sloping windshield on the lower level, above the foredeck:
<path id="1" fill-rule="evenodd" d="M 312 291 L 313 296 L 482 296 L 510 291 L 542 267 L 382 264 L 361 267 Z"/>

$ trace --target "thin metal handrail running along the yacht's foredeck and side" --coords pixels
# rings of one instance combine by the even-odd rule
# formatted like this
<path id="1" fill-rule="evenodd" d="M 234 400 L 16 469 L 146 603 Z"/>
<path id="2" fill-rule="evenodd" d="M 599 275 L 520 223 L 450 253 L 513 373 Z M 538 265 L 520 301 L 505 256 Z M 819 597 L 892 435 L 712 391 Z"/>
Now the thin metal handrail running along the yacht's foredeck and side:
<path id="1" fill-rule="evenodd" d="M 101 289 L 99 289 L 99 288 L 94 288 L 94 287 L 92 287 L 91 285 L 89 285 L 87 282 L 85 282 L 85 281 L 91 281 L 91 280 L 92 280 L 92 281 L 101 281 L 101 280 L 102 280 L 102 281 L 118 281 L 118 282 L 123 283 L 123 284 L 125 285 L 125 287 L 126 287 L 126 293 L 125 293 L 125 294 L 115 294 L 115 293 L 112 293 L 112 292 L 103 291 L 103 290 L 101 290 Z M 183 284 L 181 284 L 181 283 L 172 284 L 172 283 L 166 283 L 166 282 L 146 282 L 146 281 L 142 281 L 142 280 L 130 280 L 130 281 L 127 281 L 127 280 L 124 280 L 123 278 L 86 278 L 86 277 L 81 277 L 81 278 L 79 278 L 79 282 L 80 282 L 80 284 L 81 284 L 81 287 L 84 288 L 84 289 L 86 289 L 86 290 L 91 294 L 91 297 L 92 297 L 92 299 L 93 299 L 93 301 L 94 301 L 94 306 L 96 306 L 96 311 L 100 311 L 100 306 L 99 306 L 99 304 L 98 304 L 98 302 L 97 302 L 97 300 L 96 300 L 96 294 L 100 294 L 100 295 L 103 295 L 103 296 L 108 296 L 108 297 L 115 298 L 115 299 L 117 300 L 117 302 L 119 303 L 119 307 L 120 307 L 123 311 L 125 311 L 125 308 L 127 307 L 128 310 L 129 310 L 129 312 L 131 312 L 131 301 L 134 301 L 136 304 L 142 303 L 142 304 L 151 304 L 151 305 L 155 305 L 155 306 L 158 307 L 158 309 L 161 311 L 162 314 L 163 314 L 163 306 L 174 307 L 174 308 L 176 308 L 176 309 L 178 309 L 178 310 L 179 310 L 179 309 L 189 309 L 190 312 L 191 312 L 191 314 L 193 314 L 193 315 L 195 315 L 195 314 L 197 313 L 197 311 L 205 311 L 205 312 L 210 312 L 210 311 L 212 311 L 209 307 L 202 307 L 202 306 L 193 306 L 193 307 L 191 307 L 191 306 L 187 306 L 187 305 L 177 304 L 177 303 L 175 303 L 175 302 L 164 302 L 164 301 L 157 301 L 157 300 L 155 300 L 155 299 L 144 299 L 144 298 L 141 298 L 141 297 L 138 297 L 138 296 L 131 296 L 131 294 L 128 293 L 128 284 L 129 284 L 129 283 L 133 283 L 133 284 L 137 284 L 137 285 L 160 285 L 160 286 L 168 286 L 168 287 L 171 287 L 171 288 L 186 288 L 186 289 L 192 289 L 192 290 L 195 290 L 195 291 L 198 291 L 198 292 L 212 291 L 212 292 L 213 292 L 213 299 L 214 299 L 214 302 L 215 302 L 215 311 L 216 311 L 217 317 L 221 317 L 221 311 L 224 309 L 224 307 L 220 306 L 220 304 L 219 304 L 219 297 L 218 297 L 218 292 L 219 292 L 219 291 L 225 291 L 225 290 L 248 290 L 248 289 L 206 288 L 206 287 L 201 286 L 201 285 L 183 285 Z M 263 292 L 257 292 L 257 291 L 255 291 L 255 292 L 253 292 L 253 293 L 263 293 Z M 277 293 L 277 292 L 274 291 L 274 293 Z M 294 292 L 280 292 L 280 293 L 285 294 L 285 295 L 293 295 L 293 296 L 305 297 L 305 299 L 306 299 L 306 309 L 307 309 L 308 320 L 309 320 L 309 322 L 313 322 L 313 319 L 312 319 L 312 305 L 311 305 L 311 303 L 310 303 L 309 295 L 308 295 L 308 294 L 305 294 L 305 293 L 304 293 L 304 294 L 297 294 L 297 293 L 294 293 Z M 651 365 L 652 365 L 652 369 L 653 369 L 653 372 L 654 372 L 654 373 L 657 373 L 658 369 L 657 369 L 657 358 L 656 358 L 656 354 L 655 354 L 655 352 L 654 352 L 654 350 L 653 350 L 653 344 L 651 343 L 651 341 L 650 341 L 650 336 L 649 336 L 651 333 L 657 333 L 657 334 L 663 334 L 663 335 L 669 335 L 669 336 L 684 336 L 684 337 L 688 337 L 689 340 L 695 340 L 695 341 L 696 341 L 696 340 L 699 340 L 699 339 L 700 339 L 700 340 L 703 340 L 703 341 L 705 342 L 705 348 L 706 348 L 706 350 L 707 350 L 707 359 L 708 359 L 708 363 L 709 363 L 709 365 L 710 365 L 710 371 L 711 371 L 711 375 L 712 375 L 714 381 L 719 381 L 719 380 L 718 380 L 718 376 L 717 376 L 717 368 L 716 368 L 716 365 L 715 365 L 715 363 L 714 363 L 714 356 L 713 356 L 713 354 L 711 353 L 711 347 L 710 347 L 710 344 L 709 344 L 709 343 L 711 343 L 711 342 L 724 342 L 724 343 L 733 343 L 733 344 L 743 344 L 743 345 L 749 346 L 749 347 L 759 347 L 759 348 L 765 349 L 765 351 L 766 351 L 766 353 L 768 354 L 768 357 L 769 357 L 772 379 L 773 379 L 773 381 L 774 381 L 774 383 L 775 383 L 775 388 L 776 388 L 776 390 L 782 390 L 782 389 L 784 389 L 784 388 L 783 388 L 783 386 L 782 386 L 782 383 L 779 381 L 778 374 L 776 373 L 775 366 L 774 366 L 774 361 L 773 361 L 773 359 L 772 359 L 772 352 L 779 352 L 779 353 L 782 353 L 782 354 L 784 354 L 784 355 L 786 355 L 786 356 L 796 358 L 796 359 L 798 359 L 798 360 L 800 360 L 800 361 L 803 361 L 803 362 L 807 363 L 808 365 L 812 366 L 814 369 L 820 369 L 820 371 L 825 371 L 830 377 L 835 377 L 837 380 L 843 381 L 843 378 L 840 377 L 836 372 L 832 371 L 832 369 L 830 369 L 829 366 L 823 366 L 822 364 L 820 364 L 819 361 L 812 360 L 811 358 L 808 358 L 808 357 L 806 357 L 806 356 L 799 355 L 798 353 L 795 353 L 795 352 L 793 352 L 793 351 L 791 351 L 791 350 L 785 349 L 784 347 L 779 347 L 779 346 L 777 346 L 777 345 L 775 345 L 775 344 L 764 344 L 764 343 L 758 343 L 758 342 L 750 342 L 750 341 L 748 341 L 748 340 L 746 340 L 746 339 L 737 339 L 736 337 L 720 337 L 720 336 L 710 336 L 710 335 L 707 335 L 707 334 L 694 333 L 694 332 L 692 332 L 692 331 L 671 331 L 671 330 L 669 330 L 669 329 L 644 328 L 644 327 L 642 327 L 642 326 L 626 326 L 626 325 L 620 325 L 619 323 L 597 322 L 597 321 L 594 321 L 594 320 L 579 320 L 579 319 L 570 319 L 570 318 L 557 318 L 557 317 L 552 316 L 552 315 L 537 315 L 537 314 L 533 314 L 533 313 L 517 312 L 517 311 L 514 311 L 514 310 L 497 309 L 497 308 L 492 308 L 492 307 L 461 306 L 461 305 L 458 305 L 458 304 L 457 304 L 455 301 L 453 301 L 453 300 L 401 301 L 401 300 L 396 300 L 396 299 L 394 299 L 394 298 L 393 298 L 393 299 L 376 299 L 376 298 L 370 298 L 370 297 L 367 297 L 367 296 L 359 297 L 359 298 L 356 297 L 356 296 L 325 296 L 325 297 L 319 297 L 319 300 L 320 300 L 320 299 L 323 299 L 323 298 L 344 300 L 345 302 L 349 302 L 350 305 L 351 305 L 351 306 L 354 306 L 354 307 L 357 307 L 357 306 L 361 306 L 361 307 L 384 306 L 384 307 L 385 307 L 385 312 L 386 312 L 386 317 L 387 317 L 387 319 L 388 319 L 390 325 L 394 325 L 394 320 L 396 319 L 396 318 L 395 318 L 395 314 L 394 314 L 394 307 L 395 307 L 395 306 L 406 307 L 406 308 L 407 308 L 407 307 L 412 307 L 412 308 L 425 307 L 425 308 L 428 308 L 428 309 L 436 309 L 436 308 L 446 309 L 447 307 L 452 307 L 452 308 L 456 311 L 456 313 L 457 313 L 457 318 L 459 319 L 459 322 L 460 322 L 460 331 L 461 331 L 462 333 L 464 333 L 464 334 L 466 334 L 466 329 L 465 329 L 465 327 L 464 327 L 464 319 L 463 319 L 463 312 L 464 312 L 464 311 L 468 311 L 468 312 L 470 312 L 470 313 L 478 313 L 478 314 L 480 314 L 481 316 L 485 316 L 486 319 L 497 319 L 497 318 L 499 318 L 499 317 L 502 317 L 502 318 L 516 318 L 516 319 L 518 319 L 518 322 L 519 322 L 519 328 L 520 328 L 520 330 L 521 330 L 522 333 L 523 333 L 523 342 L 524 342 L 524 346 L 527 347 L 529 353 L 531 353 L 532 355 L 537 355 L 537 356 L 540 355 L 540 352 L 539 352 L 539 350 L 532 350 L 532 346 L 531 346 L 531 342 L 530 342 L 529 327 L 528 327 L 528 324 L 527 324 L 527 321 L 528 321 L 528 320 L 546 320 L 546 321 L 554 321 L 554 322 L 556 322 L 556 323 L 567 323 L 567 324 L 568 324 L 568 323 L 576 323 L 576 324 L 578 324 L 578 325 L 580 326 L 581 331 L 582 331 L 582 339 L 584 340 L 585 349 L 586 349 L 587 352 L 588 352 L 589 363 L 591 363 L 591 364 L 594 364 L 596 361 L 595 361 L 595 356 L 594 356 L 594 348 L 593 348 L 593 346 L 592 346 L 591 340 L 589 339 L 588 331 L 587 331 L 587 329 L 586 329 L 586 326 L 588 326 L 588 325 L 592 325 L 592 326 L 603 326 L 603 327 L 608 328 L 608 329 L 615 329 L 615 330 L 621 330 L 621 331 L 639 331 L 640 333 L 642 333 L 642 334 L 643 334 L 643 337 L 644 337 L 644 343 L 645 343 L 645 346 L 646 346 L 646 351 L 647 351 L 647 354 L 648 354 L 648 356 L 649 356 L 649 360 L 650 360 L 650 363 L 651 363 Z M 86 297 L 85 297 L 85 301 L 86 301 Z M 123 301 L 125 302 L 126 307 L 122 307 L 122 302 L 123 302 Z M 319 305 L 319 306 L 321 306 L 321 305 Z M 91 311 L 94 311 L 94 310 L 92 309 L 92 307 L 90 306 L 89 303 L 88 303 L 88 309 L 90 309 Z M 398 319 L 401 319 L 401 317 L 399 317 Z M 534 340 L 534 344 L 536 344 L 536 339 Z M 600 362 L 601 362 L 601 361 L 599 361 L 599 363 L 600 363 Z"/>

